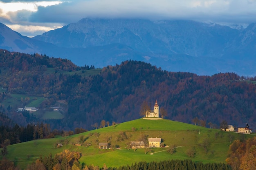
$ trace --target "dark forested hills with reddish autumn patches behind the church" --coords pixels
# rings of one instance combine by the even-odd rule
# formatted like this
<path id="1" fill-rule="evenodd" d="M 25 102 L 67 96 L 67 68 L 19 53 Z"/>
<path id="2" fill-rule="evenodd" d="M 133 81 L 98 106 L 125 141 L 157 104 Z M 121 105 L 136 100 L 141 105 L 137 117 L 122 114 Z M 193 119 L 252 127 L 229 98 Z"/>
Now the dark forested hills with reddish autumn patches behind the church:
<path id="1" fill-rule="evenodd" d="M 226 120 L 234 126 L 248 123 L 252 127 L 256 121 L 255 80 L 235 73 L 198 76 L 168 72 L 131 60 L 99 71 L 70 60 L 0 50 L 0 111 L 16 117 L 16 122 L 41 121 L 17 113 L 7 100 L 14 93 L 44 97 L 40 110 L 60 101 L 64 104 L 63 119 L 44 120 L 52 129 L 90 130 L 101 120 L 121 123 L 137 119 L 142 103 L 152 108 L 157 99 L 159 107 L 167 110 L 167 119 L 217 128 Z M 16 99 L 26 106 L 25 99 Z"/>

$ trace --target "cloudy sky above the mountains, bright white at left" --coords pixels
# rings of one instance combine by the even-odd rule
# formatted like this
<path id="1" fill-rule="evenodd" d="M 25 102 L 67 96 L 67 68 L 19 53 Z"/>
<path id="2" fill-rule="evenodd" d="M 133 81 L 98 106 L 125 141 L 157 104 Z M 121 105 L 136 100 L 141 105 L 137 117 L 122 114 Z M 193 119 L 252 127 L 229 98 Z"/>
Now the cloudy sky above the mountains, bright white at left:
<path id="1" fill-rule="evenodd" d="M 35 36 L 82 18 L 256 22 L 256 0 L 0 0 L 0 22 Z"/>

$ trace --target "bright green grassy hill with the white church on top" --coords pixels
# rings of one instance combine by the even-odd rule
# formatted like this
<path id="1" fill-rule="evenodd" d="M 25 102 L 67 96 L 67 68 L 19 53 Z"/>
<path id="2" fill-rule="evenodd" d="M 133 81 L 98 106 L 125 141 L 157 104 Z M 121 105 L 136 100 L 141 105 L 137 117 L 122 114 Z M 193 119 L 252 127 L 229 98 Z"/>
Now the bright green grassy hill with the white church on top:
<path id="1" fill-rule="evenodd" d="M 134 130 L 135 129 L 135 130 Z M 123 137 L 123 140 L 121 136 Z M 130 141 L 139 141 L 141 136 L 161 137 L 166 148 L 128 149 Z M 94 164 L 102 167 L 116 167 L 132 164 L 138 161 L 161 161 L 169 159 L 189 159 L 187 150 L 193 148 L 195 157 L 193 161 L 203 163 L 225 163 L 227 150 L 231 141 L 252 137 L 253 135 L 222 132 L 217 129 L 203 128 L 171 120 L 136 119 L 125 123 L 99 128 L 88 132 L 59 137 L 54 139 L 41 139 L 7 147 L 7 158 L 15 161 L 21 168 L 25 168 L 39 158 L 40 155 L 55 155 L 64 149 L 77 151 L 82 154 L 80 163 Z M 99 142 L 106 142 L 111 148 L 100 150 Z M 63 147 L 57 148 L 61 143 Z M 82 146 L 75 146 L 82 144 Z M 167 152 L 168 146 L 178 146 L 171 155 Z M 160 151 L 160 152 L 159 152 Z M 146 154 L 145 154 L 146 152 Z"/>

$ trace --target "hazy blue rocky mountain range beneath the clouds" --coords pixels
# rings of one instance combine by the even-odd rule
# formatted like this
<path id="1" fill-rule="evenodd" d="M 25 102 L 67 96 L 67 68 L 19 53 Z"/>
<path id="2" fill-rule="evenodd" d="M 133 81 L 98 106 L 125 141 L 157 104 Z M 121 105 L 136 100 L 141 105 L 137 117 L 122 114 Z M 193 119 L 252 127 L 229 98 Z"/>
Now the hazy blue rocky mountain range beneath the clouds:
<path id="1" fill-rule="evenodd" d="M 191 20 L 89 19 L 28 38 L 0 24 L 0 48 L 104 67 L 125 60 L 198 75 L 256 75 L 256 24 L 246 28 Z"/>

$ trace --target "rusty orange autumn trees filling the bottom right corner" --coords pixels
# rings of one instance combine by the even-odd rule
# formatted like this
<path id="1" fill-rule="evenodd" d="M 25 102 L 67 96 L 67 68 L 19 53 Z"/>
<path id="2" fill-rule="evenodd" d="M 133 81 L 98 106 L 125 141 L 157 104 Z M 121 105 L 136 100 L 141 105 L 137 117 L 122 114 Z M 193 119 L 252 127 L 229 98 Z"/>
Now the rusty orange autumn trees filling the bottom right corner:
<path id="1" fill-rule="evenodd" d="M 226 162 L 233 170 L 256 169 L 256 137 L 247 140 L 235 140 L 229 146 Z"/>

